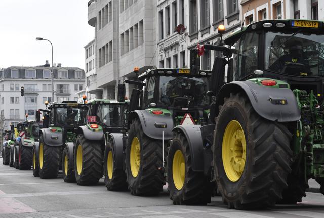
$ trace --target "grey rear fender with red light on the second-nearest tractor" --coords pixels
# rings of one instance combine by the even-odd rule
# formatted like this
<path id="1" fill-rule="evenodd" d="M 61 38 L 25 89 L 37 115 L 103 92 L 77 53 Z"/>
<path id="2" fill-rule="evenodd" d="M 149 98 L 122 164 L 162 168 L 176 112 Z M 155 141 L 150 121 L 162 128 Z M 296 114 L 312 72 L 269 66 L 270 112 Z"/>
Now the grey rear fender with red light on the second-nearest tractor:
<path id="1" fill-rule="evenodd" d="M 139 118 L 146 136 L 162 140 L 162 131 L 164 131 L 164 139 L 172 139 L 172 129 L 174 127 L 172 116 L 154 115 L 147 110 L 135 110 L 129 114 L 128 123 L 131 123 L 135 118 Z M 161 125 L 164 125 L 165 128 L 161 128 Z"/>

